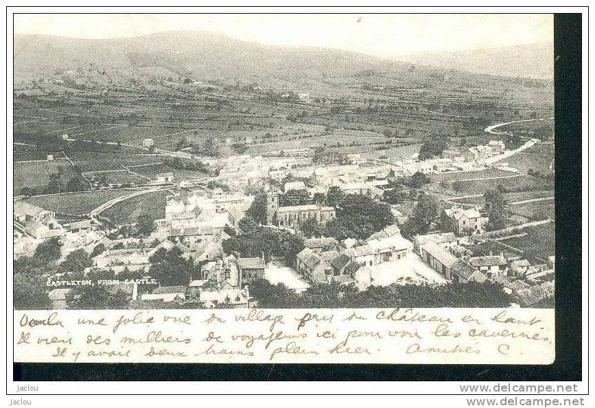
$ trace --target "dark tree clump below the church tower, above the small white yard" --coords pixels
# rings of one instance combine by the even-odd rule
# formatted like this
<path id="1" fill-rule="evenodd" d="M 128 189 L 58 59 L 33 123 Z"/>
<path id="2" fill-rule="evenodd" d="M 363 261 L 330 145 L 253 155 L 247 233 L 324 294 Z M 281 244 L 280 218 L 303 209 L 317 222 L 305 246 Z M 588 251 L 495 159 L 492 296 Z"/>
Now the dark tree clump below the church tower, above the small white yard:
<path id="1" fill-rule="evenodd" d="M 303 250 L 304 242 L 299 235 L 277 228 L 256 227 L 242 235 L 235 235 L 222 243 L 226 254 L 260 257 L 266 260 L 272 256 L 285 256 L 288 263 L 295 261 L 295 256 Z"/>

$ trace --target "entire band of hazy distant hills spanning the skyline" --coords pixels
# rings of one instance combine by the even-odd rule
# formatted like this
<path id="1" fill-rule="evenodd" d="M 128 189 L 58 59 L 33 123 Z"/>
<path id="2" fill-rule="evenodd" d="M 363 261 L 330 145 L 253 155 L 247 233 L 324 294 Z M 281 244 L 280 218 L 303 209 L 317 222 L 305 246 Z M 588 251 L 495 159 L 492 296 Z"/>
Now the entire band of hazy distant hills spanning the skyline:
<path id="1" fill-rule="evenodd" d="M 253 81 L 258 77 L 316 78 L 366 71 L 404 73 L 410 63 L 510 77 L 553 77 L 551 45 L 382 59 L 352 51 L 285 47 L 202 31 L 161 32 L 130 38 L 81 39 L 15 34 L 14 75 L 52 74 L 86 67 L 132 72 L 163 67 L 180 75 Z"/>

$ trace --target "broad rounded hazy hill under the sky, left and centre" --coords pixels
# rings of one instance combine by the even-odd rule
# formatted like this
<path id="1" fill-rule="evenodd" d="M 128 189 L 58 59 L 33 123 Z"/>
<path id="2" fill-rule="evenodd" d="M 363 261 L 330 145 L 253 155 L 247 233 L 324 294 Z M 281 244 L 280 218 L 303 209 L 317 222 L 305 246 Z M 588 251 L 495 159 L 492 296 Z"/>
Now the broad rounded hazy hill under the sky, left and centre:
<path id="1" fill-rule="evenodd" d="M 398 62 L 335 49 L 278 47 L 248 43 L 209 32 L 165 32 L 109 40 L 16 34 L 17 77 L 58 73 L 93 64 L 102 69 L 161 67 L 198 78 L 325 77 L 369 69 L 393 69 Z"/>

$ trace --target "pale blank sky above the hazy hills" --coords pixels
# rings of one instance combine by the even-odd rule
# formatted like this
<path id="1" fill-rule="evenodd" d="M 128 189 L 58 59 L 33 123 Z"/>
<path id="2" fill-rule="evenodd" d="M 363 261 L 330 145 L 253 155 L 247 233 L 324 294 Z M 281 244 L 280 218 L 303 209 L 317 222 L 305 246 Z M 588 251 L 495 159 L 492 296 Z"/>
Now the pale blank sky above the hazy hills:
<path id="1" fill-rule="evenodd" d="M 553 42 L 552 14 L 15 14 L 14 32 L 119 38 L 204 30 L 380 58 Z"/>

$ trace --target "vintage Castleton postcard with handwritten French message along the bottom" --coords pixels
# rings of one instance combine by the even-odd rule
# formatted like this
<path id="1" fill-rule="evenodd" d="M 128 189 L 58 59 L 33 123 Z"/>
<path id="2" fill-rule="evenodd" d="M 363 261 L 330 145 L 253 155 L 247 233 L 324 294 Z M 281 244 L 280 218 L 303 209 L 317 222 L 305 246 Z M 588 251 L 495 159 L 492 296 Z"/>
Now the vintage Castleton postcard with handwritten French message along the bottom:
<path id="1" fill-rule="evenodd" d="M 552 14 L 13 28 L 14 361 L 555 360 Z"/>

